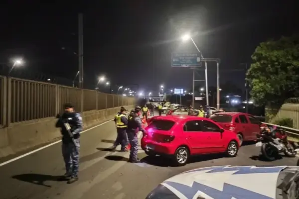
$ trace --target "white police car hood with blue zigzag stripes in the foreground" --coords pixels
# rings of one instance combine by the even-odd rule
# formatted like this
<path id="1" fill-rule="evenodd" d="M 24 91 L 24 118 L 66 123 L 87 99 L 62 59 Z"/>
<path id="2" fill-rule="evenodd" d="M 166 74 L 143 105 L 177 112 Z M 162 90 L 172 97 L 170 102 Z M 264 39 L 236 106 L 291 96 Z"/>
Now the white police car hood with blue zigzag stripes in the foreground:
<path id="1" fill-rule="evenodd" d="M 217 166 L 176 175 L 163 183 L 179 199 L 275 199 L 286 166 Z"/>

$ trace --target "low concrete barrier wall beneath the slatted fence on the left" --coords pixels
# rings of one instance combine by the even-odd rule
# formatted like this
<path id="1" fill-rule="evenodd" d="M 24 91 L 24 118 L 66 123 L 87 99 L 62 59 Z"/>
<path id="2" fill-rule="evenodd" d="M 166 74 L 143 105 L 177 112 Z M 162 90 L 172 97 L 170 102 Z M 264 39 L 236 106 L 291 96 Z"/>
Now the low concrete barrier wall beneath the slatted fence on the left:
<path id="1" fill-rule="evenodd" d="M 135 105 L 125 106 L 131 110 Z M 89 110 L 82 114 L 84 129 L 88 129 L 113 119 L 120 107 L 102 110 Z M 36 120 L 11 123 L 8 128 L 0 129 L 0 158 L 53 142 L 61 138 L 57 119 L 47 117 Z"/>

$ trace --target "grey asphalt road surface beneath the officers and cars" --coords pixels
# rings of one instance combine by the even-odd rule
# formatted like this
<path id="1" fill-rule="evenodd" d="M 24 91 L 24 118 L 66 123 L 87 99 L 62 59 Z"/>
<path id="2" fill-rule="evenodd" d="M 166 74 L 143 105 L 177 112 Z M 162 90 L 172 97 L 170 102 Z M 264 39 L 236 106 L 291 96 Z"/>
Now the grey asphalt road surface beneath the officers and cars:
<path id="1" fill-rule="evenodd" d="M 259 158 L 259 148 L 246 145 L 235 158 L 193 158 L 184 167 L 171 167 L 159 157 L 143 163 L 128 163 L 129 152 L 110 152 L 116 138 L 114 123 L 108 122 L 81 136 L 79 181 L 57 181 L 64 174 L 61 143 L 0 167 L 0 199 L 145 199 L 159 183 L 183 171 L 219 165 L 296 165 L 298 158 L 283 157 L 273 162 Z"/>

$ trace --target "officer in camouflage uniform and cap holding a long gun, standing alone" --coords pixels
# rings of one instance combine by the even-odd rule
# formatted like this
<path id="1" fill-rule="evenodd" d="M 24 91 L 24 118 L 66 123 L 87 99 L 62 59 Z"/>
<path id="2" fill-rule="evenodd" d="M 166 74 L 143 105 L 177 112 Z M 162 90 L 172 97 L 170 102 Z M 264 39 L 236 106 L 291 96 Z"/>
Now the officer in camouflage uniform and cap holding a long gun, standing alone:
<path id="1" fill-rule="evenodd" d="M 56 127 L 61 128 L 62 134 L 62 155 L 65 163 L 66 173 L 61 180 L 68 180 L 68 184 L 78 180 L 80 132 L 83 130 L 82 117 L 79 112 L 74 111 L 70 103 L 64 105 L 65 112 L 56 122 Z M 69 134 L 65 123 L 70 126 Z"/>

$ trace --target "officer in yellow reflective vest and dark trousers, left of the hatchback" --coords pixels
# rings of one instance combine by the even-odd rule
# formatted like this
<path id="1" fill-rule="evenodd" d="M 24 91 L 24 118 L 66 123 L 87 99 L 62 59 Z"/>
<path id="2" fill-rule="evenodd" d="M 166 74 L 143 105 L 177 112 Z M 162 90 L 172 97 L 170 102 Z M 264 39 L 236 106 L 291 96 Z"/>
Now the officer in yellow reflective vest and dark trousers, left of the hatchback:
<path id="1" fill-rule="evenodd" d="M 117 128 L 117 138 L 113 144 L 112 150 L 121 144 L 121 152 L 126 152 L 127 145 L 127 127 L 128 127 L 128 119 L 126 117 L 126 108 L 121 107 L 120 112 L 115 115 L 114 121 Z"/>

